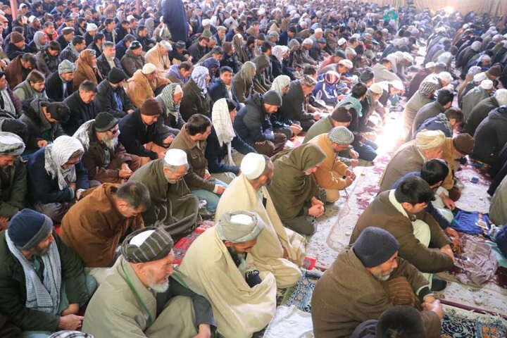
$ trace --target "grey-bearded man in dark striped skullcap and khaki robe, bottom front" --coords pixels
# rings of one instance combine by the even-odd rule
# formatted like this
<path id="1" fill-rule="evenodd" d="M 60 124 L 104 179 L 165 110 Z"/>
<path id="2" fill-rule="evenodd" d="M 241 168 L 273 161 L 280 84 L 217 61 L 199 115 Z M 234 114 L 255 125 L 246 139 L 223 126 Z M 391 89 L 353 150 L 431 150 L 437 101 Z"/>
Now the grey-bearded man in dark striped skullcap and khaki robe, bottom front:
<path id="1" fill-rule="evenodd" d="M 88 305 L 83 332 L 111 338 L 211 337 L 216 325 L 210 303 L 179 275 L 171 277 L 175 255 L 168 232 L 161 227 L 132 232 L 121 253 Z"/>

